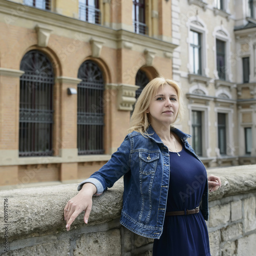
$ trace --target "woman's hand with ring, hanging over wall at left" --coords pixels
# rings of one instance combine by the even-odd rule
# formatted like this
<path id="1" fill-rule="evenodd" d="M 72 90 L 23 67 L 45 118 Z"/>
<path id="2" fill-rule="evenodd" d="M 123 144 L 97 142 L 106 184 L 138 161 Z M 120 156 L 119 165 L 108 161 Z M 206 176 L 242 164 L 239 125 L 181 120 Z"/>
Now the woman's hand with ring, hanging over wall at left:
<path id="1" fill-rule="evenodd" d="M 92 197 L 96 193 L 97 188 L 92 183 L 85 183 L 78 194 L 69 200 L 64 208 L 64 219 L 67 223 L 67 231 L 76 217 L 84 210 L 84 223 L 88 223 L 90 212 L 92 209 Z"/>

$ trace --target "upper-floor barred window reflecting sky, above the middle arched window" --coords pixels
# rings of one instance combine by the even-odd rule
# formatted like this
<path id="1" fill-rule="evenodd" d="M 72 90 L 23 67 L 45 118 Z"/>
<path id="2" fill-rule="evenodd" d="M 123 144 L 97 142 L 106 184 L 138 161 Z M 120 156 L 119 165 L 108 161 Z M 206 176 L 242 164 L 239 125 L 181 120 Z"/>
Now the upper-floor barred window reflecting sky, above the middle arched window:
<path id="1" fill-rule="evenodd" d="M 100 24 L 99 0 L 79 0 L 79 19 L 84 22 Z"/>

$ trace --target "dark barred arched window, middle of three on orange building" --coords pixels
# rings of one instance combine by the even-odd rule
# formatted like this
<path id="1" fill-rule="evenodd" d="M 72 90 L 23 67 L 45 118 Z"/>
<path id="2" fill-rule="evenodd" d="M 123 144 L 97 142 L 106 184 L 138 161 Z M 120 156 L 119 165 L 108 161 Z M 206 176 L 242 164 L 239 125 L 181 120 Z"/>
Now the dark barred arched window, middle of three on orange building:
<path id="1" fill-rule="evenodd" d="M 78 70 L 77 147 L 79 155 L 103 154 L 104 81 L 99 67 L 84 61 Z"/>

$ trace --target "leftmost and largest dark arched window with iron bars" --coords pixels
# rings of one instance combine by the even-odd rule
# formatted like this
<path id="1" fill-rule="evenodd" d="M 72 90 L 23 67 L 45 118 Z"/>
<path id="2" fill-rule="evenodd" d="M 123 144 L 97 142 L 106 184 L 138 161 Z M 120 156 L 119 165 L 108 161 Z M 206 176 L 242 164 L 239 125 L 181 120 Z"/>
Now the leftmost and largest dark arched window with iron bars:
<path id="1" fill-rule="evenodd" d="M 20 63 L 19 156 L 52 156 L 53 85 L 51 61 L 32 50 Z"/>

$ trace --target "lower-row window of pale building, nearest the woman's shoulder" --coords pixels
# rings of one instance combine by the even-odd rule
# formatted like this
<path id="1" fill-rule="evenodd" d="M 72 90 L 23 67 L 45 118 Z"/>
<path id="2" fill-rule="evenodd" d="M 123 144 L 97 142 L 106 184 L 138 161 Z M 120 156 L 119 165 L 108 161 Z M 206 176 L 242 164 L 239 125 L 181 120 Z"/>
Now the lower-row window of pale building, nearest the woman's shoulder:
<path id="1" fill-rule="evenodd" d="M 202 156 L 202 111 L 192 111 L 192 147 Z"/>

